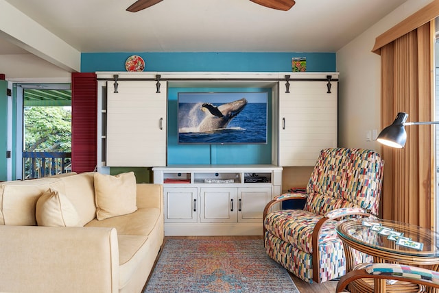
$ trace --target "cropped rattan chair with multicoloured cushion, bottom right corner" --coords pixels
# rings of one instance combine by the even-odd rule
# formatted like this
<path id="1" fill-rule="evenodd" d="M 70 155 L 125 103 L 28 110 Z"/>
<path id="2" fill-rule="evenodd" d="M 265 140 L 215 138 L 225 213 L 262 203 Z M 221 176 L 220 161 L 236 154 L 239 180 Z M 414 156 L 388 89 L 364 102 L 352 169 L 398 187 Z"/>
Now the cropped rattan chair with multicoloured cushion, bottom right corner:
<path id="1" fill-rule="evenodd" d="M 364 269 L 353 270 L 340 278 L 335 292 L 343 292 L 346 285 L 357 279 L 388 279 L 405 281 L 431 288 L 439 288 L 439 272 L 402 264 L 368 264 Z"/>

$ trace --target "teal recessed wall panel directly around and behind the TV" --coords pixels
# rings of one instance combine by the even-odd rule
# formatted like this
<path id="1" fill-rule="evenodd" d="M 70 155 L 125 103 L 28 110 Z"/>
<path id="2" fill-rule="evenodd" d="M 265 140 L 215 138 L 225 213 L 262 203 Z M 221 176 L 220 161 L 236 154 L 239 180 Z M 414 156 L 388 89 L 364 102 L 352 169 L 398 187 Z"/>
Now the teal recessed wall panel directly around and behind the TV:
<path id="1" fill-rule="evenodd" d="M 271 164 L 271 88 L 168 88 L 167 164 Z M 178 144 L 178 92 L 268 92 L 267 144 Z"/>

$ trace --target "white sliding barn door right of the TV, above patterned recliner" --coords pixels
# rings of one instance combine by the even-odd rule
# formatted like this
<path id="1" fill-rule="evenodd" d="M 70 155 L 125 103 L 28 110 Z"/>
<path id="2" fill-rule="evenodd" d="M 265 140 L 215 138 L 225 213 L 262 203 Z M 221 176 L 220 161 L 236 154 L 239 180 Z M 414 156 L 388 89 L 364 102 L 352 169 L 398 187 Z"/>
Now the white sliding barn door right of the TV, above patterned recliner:
<path id="1" fill-rule="evenodd" d="M 279 90 L 279 166 L 314 166 L 320 150 L 337 146 L 337 81 L 292 81 Z"/>

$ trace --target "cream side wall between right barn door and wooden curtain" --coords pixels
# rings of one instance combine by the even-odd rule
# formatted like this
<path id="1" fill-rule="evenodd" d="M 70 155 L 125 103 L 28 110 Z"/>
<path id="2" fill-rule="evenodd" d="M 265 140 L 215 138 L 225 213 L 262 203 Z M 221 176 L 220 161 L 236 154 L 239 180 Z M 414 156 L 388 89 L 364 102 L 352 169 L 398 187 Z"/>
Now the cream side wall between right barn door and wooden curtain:
<path id="1" fill-rule="evenodd" d="M 336 52 L 340 72 L 339 146 L 380 151 L 379 143 L 366 141 L 366 131 L 381 131 L 381 59 L 371 52 L 375 38 L 431 1 L 408 0 Z"/>

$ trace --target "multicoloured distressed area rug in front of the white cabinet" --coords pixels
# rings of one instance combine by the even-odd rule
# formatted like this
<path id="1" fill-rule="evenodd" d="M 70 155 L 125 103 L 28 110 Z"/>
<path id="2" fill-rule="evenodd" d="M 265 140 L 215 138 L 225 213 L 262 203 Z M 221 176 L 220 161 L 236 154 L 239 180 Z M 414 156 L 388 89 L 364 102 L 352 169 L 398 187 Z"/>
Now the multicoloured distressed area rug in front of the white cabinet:
<path id="1" fill-rule="evenodd" d="M 169 239 L 147 292 L 299 291 L 288 272 L 266 255 L 262 239 Z"/>

